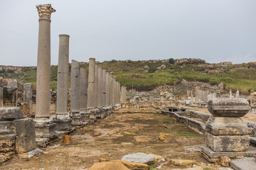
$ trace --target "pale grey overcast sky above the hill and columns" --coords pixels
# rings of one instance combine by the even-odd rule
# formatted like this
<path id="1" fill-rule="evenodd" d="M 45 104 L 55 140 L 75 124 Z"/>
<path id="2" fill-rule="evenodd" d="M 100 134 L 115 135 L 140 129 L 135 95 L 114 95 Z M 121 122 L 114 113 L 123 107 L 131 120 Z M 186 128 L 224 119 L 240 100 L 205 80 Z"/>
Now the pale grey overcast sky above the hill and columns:
<path id="1" fill-rule="evenodd" d="M 70 35 L 70 61 L 256 62 L 255 0 L 1 0 L 0 65 L 36 66 L 37 4 L 56 10 L 51 64 L 59 34 Z"/>

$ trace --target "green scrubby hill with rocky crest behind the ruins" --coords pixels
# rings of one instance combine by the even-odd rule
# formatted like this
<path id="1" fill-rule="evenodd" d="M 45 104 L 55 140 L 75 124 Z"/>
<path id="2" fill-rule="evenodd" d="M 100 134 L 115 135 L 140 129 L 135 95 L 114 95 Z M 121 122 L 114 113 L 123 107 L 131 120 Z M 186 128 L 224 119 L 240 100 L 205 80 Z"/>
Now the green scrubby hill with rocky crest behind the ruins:
<path id="1" fill-rule="evenodd" d="M 209 64 L 200 59 L 169 59 L 143 61 L 117 61 L 99 63 L 103 69 L 111 69 L 117 81 L 139 91 L 148 91 L 156 86 L 178 84 L 182 79 L 225 85 L 226 89 L 240 91 L 256 90 L 256 62 L 232 64 L 221 62 Z M 88 69 L 88 63 L 80 67 Z M 70 66 L 71 68 L 71 66 Z M 57 86 L 58 66 L 51 66 L 51 88 Z M 36 67 L 0 66 L 0 76 L 18 79 L 21 83 L 31 82 L 36 86 Z"/>

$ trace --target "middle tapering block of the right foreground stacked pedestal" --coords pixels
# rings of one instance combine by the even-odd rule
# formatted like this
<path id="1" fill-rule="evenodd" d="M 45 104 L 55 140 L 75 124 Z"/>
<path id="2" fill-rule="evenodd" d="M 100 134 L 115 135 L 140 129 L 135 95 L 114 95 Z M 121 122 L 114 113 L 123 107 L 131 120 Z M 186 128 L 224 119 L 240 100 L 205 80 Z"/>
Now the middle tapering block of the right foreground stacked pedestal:
<path id="1" fill-rule="evenodd" d="M 214 117 L 206 122 L 206 132 L 212 135 L 247 135 L 247 125 L 241 118 Z"/>

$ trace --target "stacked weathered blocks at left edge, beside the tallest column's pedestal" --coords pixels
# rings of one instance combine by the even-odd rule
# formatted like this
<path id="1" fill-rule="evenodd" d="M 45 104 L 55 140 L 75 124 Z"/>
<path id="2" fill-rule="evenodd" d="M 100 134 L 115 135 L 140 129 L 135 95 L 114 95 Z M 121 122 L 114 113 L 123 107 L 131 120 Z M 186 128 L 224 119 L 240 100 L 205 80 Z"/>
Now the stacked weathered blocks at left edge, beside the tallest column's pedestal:
<path id="1" fill-rule="evenodd" d="M 21 108 L 0 108 L 0 162 L 12 154 L 25 154 L 36 148 L 35 123 L 23 118 Z M 27 153 L 27 154 L 26 154 Z"/>

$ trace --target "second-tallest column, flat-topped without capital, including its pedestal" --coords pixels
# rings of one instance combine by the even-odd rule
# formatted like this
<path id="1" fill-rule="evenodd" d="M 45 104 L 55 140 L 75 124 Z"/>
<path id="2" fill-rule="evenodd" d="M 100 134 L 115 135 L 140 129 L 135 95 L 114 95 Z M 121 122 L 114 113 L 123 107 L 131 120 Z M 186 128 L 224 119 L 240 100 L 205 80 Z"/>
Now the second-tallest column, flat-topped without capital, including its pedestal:
<path id="1" fill-rule="evenodd" d="M 70 35 L 59 35 L 57 107 L 54 123 L 56 130 L 70 130 L 71 119 L 68 115 L 68 69 Z"/>

